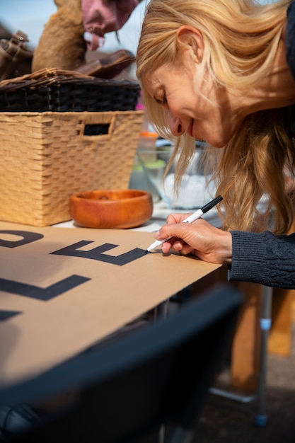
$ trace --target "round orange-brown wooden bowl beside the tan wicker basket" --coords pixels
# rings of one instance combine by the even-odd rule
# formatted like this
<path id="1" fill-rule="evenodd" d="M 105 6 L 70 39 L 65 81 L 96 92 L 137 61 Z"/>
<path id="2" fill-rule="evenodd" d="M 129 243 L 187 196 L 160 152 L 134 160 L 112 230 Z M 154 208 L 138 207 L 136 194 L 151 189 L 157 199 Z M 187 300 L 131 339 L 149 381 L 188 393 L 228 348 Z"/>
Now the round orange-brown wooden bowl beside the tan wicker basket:
<path id="1" fill-rule="evenodd" d="M 151 193 L 144 190 L 90 190 L 70 197 L 71 218 L 87 228 L 134 228 L 152 213 Z"/>

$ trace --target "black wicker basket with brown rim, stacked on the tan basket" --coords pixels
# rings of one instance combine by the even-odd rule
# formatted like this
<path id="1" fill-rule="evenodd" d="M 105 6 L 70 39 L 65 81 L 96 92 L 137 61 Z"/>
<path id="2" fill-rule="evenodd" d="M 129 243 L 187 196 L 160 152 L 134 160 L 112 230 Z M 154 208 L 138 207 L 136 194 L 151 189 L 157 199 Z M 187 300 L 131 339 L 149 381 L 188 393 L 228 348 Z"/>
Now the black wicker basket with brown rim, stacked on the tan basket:
<path id="1" fill-rule="evenodd" d="M 0 82 L 0 111 L 105 112 L 134 110 L 136 81 L 106 80 L 75 71 L 40 69 Z"/>

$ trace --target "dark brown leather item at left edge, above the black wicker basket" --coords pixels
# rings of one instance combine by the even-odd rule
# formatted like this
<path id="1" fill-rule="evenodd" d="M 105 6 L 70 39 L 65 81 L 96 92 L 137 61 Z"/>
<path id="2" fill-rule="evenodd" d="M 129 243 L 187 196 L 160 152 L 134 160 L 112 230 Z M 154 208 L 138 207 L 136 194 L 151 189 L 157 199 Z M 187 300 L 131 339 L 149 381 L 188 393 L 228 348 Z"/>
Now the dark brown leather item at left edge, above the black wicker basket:
<path id="1" fill-rule="evenodd" d="M 28 35 L 18 30 L 11 40 L 0 40 L 0 80 L 30 74 L 33 51 L 26 47 Z"/>

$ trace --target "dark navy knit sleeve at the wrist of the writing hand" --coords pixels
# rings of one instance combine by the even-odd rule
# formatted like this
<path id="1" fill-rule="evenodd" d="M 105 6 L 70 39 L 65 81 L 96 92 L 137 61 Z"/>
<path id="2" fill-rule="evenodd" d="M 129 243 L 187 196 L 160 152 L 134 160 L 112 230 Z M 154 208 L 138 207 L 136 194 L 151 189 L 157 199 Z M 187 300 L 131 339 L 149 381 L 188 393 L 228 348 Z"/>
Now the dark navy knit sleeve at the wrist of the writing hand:
<path id="1" fill-rule="evenodd" d="M 233 260 L 228 267 L 229 281 L 295 289 L 295 234 L 232 231 L 231 236 Z"/>

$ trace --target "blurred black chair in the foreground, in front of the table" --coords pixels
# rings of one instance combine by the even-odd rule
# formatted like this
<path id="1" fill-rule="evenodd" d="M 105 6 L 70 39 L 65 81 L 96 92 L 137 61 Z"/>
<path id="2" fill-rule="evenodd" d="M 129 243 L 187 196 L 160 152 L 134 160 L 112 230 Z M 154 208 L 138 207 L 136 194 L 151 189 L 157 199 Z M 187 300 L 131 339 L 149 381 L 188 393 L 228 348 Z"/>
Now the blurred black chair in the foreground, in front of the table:
<path id="1" fill-rule="evenodd" d="M 167 319 L 1 389 L 0 407 L 41 405 L 61 392 L 74 392 L 72 401 L 54 409 L 42 425 L 6 441 L 140 442 L 163 423 L 166 441 L 191 441 L 242 301 L 239 292 L 221 286 Z"/>

